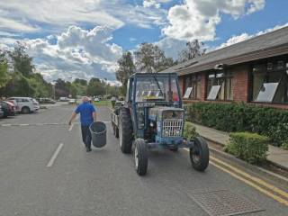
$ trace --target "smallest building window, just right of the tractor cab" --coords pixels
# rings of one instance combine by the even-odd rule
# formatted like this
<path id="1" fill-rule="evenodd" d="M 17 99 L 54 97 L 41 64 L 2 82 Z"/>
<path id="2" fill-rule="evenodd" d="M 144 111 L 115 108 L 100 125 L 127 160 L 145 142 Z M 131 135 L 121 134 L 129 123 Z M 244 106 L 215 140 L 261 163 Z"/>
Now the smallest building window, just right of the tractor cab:
<path id="1" fill-rule="evenodd" d="M 201 78 L 198 75 L 184 76 L 184 99 L 200 99 Z"/>

